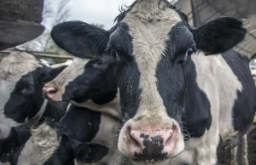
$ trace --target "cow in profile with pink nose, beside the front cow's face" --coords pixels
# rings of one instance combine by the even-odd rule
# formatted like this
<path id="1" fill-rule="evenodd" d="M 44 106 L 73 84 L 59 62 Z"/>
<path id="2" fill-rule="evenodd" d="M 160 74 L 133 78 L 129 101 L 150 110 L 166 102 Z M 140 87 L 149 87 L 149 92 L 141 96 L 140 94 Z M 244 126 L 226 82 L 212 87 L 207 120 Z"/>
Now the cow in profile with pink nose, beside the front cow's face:
<path id="1" fill-rule="evenodd" d="M 92 60 L 73 63 L 44 85 L 46 98 L 70 102 L 61 118 L 74 139 L 109 148 L 97 165 L 119 165 L 116 134 L 121 120 L 117 80 L 112 57 L 98 54 Z"/>

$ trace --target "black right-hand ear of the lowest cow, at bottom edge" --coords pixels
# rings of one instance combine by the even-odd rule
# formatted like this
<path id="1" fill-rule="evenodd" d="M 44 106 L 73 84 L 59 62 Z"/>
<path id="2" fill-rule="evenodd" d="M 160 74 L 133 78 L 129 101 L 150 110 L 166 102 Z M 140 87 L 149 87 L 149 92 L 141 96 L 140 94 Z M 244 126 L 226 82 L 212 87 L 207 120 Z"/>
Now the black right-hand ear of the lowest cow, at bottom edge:
<path id="1" fill-rule="evenodd" d="M 74 150 L 74 158 L 80 163 L 94 163 L 108 153 L 108 147 L 96 143 L 83 143 Z"/>

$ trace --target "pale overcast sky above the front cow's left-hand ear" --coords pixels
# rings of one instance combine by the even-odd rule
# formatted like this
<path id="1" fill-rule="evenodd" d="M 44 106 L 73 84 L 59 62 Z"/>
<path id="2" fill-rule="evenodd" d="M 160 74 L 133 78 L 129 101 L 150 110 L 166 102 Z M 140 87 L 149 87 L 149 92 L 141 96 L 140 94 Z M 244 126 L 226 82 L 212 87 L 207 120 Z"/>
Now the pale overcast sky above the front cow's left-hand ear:
<path id="1" fill-rule="evenodd" d="M 47 29 L 53 26 L 52 15 L 56 14 L 63 0 L 44 0 L 45 8 L 51 9 L 50 15 L 44 15 L 43 24 Z M 133 0 L 70 0 L 67 3 L 69 18 L 67 20 L 83 20 L 89 24 L 103 24 L 105 29 L 113 26 L 114 18 L 119 14 L 122 4 L 130 5 Z"/>

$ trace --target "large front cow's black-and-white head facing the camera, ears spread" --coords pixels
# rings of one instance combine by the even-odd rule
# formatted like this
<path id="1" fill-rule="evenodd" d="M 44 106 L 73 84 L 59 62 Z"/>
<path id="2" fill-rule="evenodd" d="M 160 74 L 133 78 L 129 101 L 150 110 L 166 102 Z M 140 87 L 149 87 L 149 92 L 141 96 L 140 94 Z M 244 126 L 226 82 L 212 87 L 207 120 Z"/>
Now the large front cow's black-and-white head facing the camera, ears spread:
<path id="1" fill-rule="evenodd" d="M 193 114 L 196 104 L 187 108 L 186 100 L 194 99 L 186 97 L 193 95 L 188 86 L 196 85 L 190 81 L 196 76 L 191 58 L 227 51 L 246 31 L 240 20 L 228 17 L 193 28 L 165 0 L 137 0 L 117 20 L 110 36 L 79 21 L 56 26 L 52 36 L 61 48 L 81 58 L 108 43 L 118 67 L 124 115 L 119 151 L 137 164 L 162 162 L 183 151 L 186 128 L 196 137 L 211 124 L 210 112 Z"/>

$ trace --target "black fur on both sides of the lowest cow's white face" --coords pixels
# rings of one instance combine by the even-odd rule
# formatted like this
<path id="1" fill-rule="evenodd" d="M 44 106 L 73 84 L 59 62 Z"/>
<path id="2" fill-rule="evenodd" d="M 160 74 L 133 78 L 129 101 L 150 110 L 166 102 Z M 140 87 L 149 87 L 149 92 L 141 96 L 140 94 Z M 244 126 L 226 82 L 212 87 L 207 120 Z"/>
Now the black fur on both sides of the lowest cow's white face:
<path id="1" fill-rule="evenodd" d="M 108 153 L 106 146 L 82 143 L 77 139 L 73 139 L 72 132 L 61 122 L 48 121 L 45 123 L 55 129 L 61 142 L 55 153 L 46 162 L 43 162 L 44 165 L 74 165 L 74 158 L 79 162 L 92 163 L 101 160 Z M 89 131 L 89 129 L 86 131 Z M 0 161 L 9 162 L 10 165 L 17 165 L 20 152 L 24 149 L 26 141 L 30 137 L 29 129 L 13 128 L 9 137 L 0 141 Z"/>

